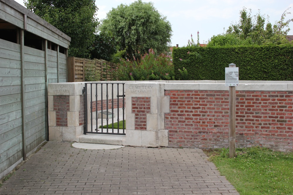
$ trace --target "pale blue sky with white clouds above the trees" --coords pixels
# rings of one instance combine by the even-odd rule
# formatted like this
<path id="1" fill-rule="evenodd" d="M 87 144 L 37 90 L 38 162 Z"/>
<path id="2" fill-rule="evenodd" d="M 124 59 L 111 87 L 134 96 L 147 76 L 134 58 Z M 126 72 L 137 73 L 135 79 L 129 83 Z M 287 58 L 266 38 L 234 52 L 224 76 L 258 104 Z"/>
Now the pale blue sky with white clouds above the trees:
<path id="1" fill-rule="evenodd" d="M 200 43 L 207 43 L 213 35 L 226 32 L 231 23 L 239 22 L 239 12 L 246 7 L 251 9 L 251 15 L 260 11 L 261 15 L 269 16 L 270 23 L 274 24 L 281 19 L 282 13 L 287 9 L 289 14 L 285 19 L 293 18 L 292 0 L 142 0 L 152 2 L 154 7 L 166 16 L 172 25 L 171 46 L 178 44 L 186 46 L 190 35 L 197 41 L 197 31 Z M 23 5 L 23 0 L 16 0 Z M 97 17 L 99 20 L 106 18 L 112 8 L 120 4 L 131 4 L 134 0 L 96 0 L 99 8 Z M 225 30 L 224 30 L 225 28 Z M 293 35 L 293 22 L 289 28 L 292 29 L 288 35 Z"/>

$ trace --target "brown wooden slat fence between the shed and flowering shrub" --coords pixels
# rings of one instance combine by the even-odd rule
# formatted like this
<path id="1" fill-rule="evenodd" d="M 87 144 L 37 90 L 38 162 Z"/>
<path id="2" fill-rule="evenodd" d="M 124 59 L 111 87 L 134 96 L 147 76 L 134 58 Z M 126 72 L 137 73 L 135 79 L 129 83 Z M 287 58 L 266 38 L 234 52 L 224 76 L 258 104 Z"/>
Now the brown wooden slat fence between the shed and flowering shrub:
<path id="1" fill-rule="evenodd" d="M 112 81 L 112 70 L 116 68 L 116 64 L 105 60 L 90 60 L 86 58 L 68 57 L 68 82 L 85 82 L 85 68 L 89 65 L 95 65 L 96 70 L 101 74 L 100 81 Z"/>

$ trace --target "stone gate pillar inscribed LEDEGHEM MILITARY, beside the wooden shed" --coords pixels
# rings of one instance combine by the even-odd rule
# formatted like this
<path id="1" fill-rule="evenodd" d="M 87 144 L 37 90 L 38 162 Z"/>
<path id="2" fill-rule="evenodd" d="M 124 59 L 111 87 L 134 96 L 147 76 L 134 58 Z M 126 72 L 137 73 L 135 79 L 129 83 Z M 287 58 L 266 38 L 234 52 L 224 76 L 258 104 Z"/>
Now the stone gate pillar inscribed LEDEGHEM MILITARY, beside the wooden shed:
<path id="1" fill-rule="evenodd" d="M 50 141 L 79 141 L 84 133 L 83 87 L 81 82 L 48 84 Z"/>

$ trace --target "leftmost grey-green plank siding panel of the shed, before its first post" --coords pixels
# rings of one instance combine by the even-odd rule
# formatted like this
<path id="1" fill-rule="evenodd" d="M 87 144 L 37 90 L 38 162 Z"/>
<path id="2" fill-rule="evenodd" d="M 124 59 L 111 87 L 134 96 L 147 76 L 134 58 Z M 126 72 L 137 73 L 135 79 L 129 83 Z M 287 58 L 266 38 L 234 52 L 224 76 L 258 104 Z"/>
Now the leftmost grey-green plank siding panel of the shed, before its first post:
<path id="1" fill-rule="evenodd" d="M 20 60 L 20 45 L 0 39 L 0 173 L 22 157 Z"/>

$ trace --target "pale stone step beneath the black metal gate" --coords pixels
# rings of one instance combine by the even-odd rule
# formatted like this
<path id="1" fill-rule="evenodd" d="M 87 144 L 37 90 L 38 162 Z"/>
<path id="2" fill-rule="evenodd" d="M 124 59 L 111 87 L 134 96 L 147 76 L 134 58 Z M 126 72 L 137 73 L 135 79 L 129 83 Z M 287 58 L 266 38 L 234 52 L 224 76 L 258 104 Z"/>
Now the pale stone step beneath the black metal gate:
<path id="1" fill-rule="evenodd" d="M 80 143 L 124 145 L 125 135 L 86 134 L 79 136 Z"/>

